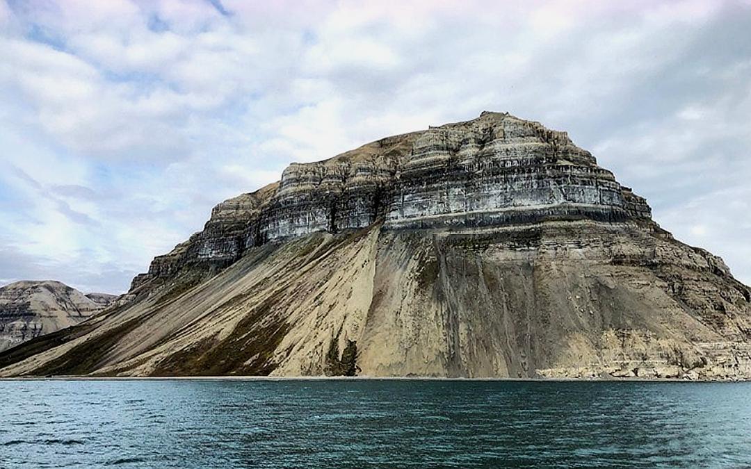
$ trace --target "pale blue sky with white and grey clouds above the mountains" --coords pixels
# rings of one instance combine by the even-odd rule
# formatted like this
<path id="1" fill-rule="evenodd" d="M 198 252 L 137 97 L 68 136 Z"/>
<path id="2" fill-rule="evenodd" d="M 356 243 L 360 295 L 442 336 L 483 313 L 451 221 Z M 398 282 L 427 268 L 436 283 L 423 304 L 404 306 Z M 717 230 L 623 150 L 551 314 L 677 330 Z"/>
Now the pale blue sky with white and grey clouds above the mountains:
<path id="1" fill-rule="evenodd" d="M 122 293 L 292 161 L 483 110 L 751 284 L 751 0 L 0 0 L 0 284 Z"/>

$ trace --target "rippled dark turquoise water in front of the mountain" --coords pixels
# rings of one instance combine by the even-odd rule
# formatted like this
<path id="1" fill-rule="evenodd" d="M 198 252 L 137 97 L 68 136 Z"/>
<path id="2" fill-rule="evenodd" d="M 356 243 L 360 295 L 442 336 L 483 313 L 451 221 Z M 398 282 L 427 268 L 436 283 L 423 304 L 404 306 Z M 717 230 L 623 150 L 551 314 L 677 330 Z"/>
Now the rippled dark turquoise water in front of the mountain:
<path id="1" fill-rule="evenodd" d="M 751 467 L 751 383 L 0 381 L 0 467 Z"/>

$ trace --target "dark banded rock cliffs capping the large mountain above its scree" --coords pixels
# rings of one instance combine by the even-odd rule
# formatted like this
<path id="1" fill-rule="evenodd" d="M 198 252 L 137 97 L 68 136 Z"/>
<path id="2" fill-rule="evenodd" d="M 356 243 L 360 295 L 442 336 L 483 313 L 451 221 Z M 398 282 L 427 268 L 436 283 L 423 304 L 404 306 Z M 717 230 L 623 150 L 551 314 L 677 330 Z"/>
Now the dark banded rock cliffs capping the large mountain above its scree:
<path id="1" fill-rule="evenodd" d="M 327 161 L 291 164 L 281 182 L 220 203 L 201 233 L 157 257 L 139 287 L 186 264 L 225 266 L 243 251 L 316 232 L 484 227 L 557 218 L 650 218 L 565 132 L 508 113 L 388 137 Z"/>

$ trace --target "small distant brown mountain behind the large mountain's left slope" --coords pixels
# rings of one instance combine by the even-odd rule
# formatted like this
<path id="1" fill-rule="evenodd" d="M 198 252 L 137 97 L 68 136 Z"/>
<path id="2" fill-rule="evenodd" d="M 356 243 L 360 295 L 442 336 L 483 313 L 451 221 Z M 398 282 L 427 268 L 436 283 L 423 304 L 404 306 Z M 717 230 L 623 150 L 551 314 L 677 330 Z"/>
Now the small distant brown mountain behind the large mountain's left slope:
<path id="1" fill-rule="evenodd" d="M 0 351 L 81 323 L 115 298 L 84 295 L 59 281 L 17 281 L 0 287 Z"/>

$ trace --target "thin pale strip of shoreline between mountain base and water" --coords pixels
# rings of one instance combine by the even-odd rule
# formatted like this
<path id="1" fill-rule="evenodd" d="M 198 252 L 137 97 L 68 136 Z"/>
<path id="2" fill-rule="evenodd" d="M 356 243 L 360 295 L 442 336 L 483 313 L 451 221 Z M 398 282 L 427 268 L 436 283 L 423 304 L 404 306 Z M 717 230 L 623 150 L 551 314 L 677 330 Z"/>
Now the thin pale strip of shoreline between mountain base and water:
<path id="1" fill-rule="evenodd" d="M 0 381 L 446 381 L 508 383 L 751 383 L 751 379 L 687 380 L 681 378 L 514 378 L 514 377 L 404 377 L 404 376 L 19 376 Z"/>

